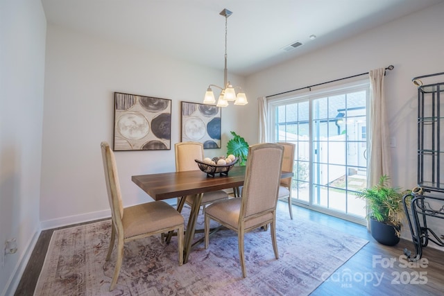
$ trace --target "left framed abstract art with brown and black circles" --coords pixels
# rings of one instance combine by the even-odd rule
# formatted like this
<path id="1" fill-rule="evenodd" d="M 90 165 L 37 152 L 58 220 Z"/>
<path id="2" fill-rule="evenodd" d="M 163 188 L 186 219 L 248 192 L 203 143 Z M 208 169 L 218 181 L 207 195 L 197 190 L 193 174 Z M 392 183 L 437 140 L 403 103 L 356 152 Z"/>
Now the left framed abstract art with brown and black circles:
<path id="1" fill-rule="evenodd" d="M 114 150 L 171 149 L 171 100 L 114 92 Z"/>

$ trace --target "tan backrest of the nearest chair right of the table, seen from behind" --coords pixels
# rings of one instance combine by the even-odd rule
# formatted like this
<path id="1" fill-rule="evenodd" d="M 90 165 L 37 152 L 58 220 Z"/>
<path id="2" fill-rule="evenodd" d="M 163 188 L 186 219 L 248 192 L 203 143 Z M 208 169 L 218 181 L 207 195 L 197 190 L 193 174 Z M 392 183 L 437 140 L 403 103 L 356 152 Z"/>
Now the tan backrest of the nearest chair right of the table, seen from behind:
<path id="1" fill-rule="evenodd" d="M 239 220 L 275 210 L 283 155 L 284 147 L 275 143 L 259 143 L 248 148 Z"/>

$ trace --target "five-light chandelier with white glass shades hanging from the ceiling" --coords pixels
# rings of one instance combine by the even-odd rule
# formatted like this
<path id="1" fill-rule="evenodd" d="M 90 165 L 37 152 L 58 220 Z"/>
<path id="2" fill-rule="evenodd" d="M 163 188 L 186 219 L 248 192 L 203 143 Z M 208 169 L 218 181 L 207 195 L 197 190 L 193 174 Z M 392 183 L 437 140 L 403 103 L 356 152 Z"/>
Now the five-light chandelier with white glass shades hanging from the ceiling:
<path id="1" fill-rule="evenodd" d="M 219 15 L 225 17 L 225 68 L 223 69 L 223 86 L 219 87 L 218 85 L 208 85 L 207 92 L 205 93 L 205 98 L 203 99 L 204 104 L 214 104 L 216 100 L 214 99 L 214 93 L 211 87 L 217 87 L 221 89 L 221 94 L 219 95 L 219 99 L 217 100 L 216 107 L 227 107 L 229 101 L 234 101 L 234 105 L 246 105 L 248 104 L 247 97 L 244 92 L 236 92 L 234 91 L 234 87 L 231 85 L 230 81 L 227 81 L 227 20 L 230 15 L 232 15 L 228 9 L 222 10 Z M 240 87 L 237 87 L 241 89 Z"/>

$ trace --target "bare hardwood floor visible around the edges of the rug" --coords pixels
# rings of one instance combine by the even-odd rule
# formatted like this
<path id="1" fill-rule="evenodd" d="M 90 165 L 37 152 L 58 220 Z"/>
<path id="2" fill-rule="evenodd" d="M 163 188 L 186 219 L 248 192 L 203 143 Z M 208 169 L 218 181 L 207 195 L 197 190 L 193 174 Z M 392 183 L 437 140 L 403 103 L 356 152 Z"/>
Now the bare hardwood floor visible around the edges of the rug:
<path id="1" fill-rule="evenodd" d="M 286 203 L 278 202 L 278 207 L 288 213 Z M 410 241 L 402 239 L 394 247 L 381 245 L 364 226 L 302 207 L 293 206 L 293 216 L 316 222 L 319 227 L 330 227 L 370 241 L 311 295 L 444 295 L 444 252 L 425 247 L 420 266 L 419 263 L 409 263 L 403 259 L 404 247 L 414 251 Z M 33 295 L 54 230 L 45 230 L 40 234 L 15 295 Z M 288 291 L 287 295 L 293 294 Z"/>

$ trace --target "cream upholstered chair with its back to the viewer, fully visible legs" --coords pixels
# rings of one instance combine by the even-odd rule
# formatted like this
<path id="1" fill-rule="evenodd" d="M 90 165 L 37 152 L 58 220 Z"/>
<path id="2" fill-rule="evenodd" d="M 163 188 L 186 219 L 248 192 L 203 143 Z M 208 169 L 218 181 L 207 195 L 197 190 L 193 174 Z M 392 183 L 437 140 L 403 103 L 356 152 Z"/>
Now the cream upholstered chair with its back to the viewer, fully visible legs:
<path id="1" fill-rule="evenodd" d="M 210 219 L 237 232 L 242 275 L 247 276 L 244 257 L 244 234 L 270 224 L 271 241 L 276 259 L 276 204 L 282 172 L 284 147 L 275 143 L 259 143 L 248 148 L 244 188 L 241 198 L 210 204 L 205 209 L 205 248 L 208 247 Z"/>

